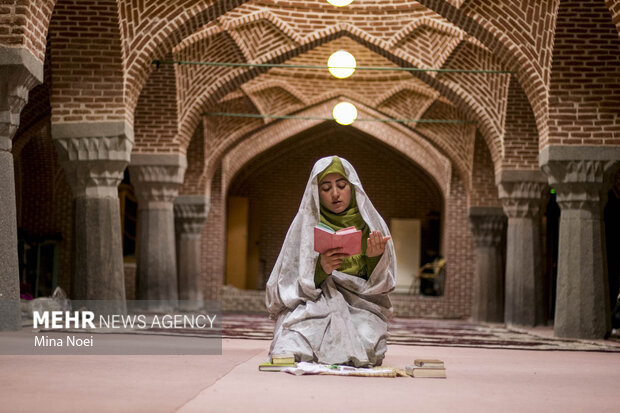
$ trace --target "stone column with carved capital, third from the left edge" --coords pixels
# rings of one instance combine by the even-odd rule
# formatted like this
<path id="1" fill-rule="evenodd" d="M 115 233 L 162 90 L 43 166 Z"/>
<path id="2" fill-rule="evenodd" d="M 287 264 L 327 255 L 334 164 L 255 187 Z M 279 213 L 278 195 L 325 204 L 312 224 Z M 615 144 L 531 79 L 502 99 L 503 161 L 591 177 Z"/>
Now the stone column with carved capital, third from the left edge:
<path id="1" fill-rule="evenodd" d="M 174 199 L 187 161 L 181 154 L 133 154 L 129 173 L 138 198 L 136 298 L 178 304 Z"/>

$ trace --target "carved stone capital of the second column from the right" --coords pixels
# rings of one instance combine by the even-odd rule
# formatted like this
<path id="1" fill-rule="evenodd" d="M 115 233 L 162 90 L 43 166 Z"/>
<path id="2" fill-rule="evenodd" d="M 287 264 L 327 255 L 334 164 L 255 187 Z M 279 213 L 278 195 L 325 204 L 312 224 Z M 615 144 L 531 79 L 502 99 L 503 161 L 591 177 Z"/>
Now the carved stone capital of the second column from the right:
<path id="1" fill-rule="evenodd" d="M 499 199 L 509 218 L 539 217 L 546 201 L 547 178 L 537 170 L 506 170 L 497 175 Z"/>

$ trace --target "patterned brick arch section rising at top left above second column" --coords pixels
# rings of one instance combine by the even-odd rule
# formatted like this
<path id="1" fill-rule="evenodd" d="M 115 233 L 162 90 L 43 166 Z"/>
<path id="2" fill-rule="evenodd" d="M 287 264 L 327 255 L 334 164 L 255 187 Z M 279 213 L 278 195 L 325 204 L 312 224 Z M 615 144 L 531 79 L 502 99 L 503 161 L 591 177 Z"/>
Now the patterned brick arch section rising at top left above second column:
<path id="1" fill-rule="evenodd" d="M 119 0 L 118 15 L 123 35 L 127 79 L 124 99 L 130 115 L 133 115 L 140 91 L 154 70 L 151 63 L 153 60 L 162 59 L 202 26 L 246 2 L 247 0 L 215 0 L 206 3 L 200 0 L 182 0 L 171 6 L 161 2 L 149 2 L 143 6 L 144 10 L 136 10 L 139 6 L 136 6 L 135 2 Z"/>

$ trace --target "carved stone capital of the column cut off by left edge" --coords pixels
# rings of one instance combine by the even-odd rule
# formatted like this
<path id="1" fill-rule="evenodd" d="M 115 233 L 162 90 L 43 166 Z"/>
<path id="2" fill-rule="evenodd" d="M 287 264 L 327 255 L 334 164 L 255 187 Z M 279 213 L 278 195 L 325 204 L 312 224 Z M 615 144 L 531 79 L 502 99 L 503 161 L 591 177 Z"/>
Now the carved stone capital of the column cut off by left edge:
<path id="1" fill-rule="evenodd" d="M 11 150 L 28 92 L 42 81 L 43 62 L 30 51 L 0 46 L 0 151 Z"/>

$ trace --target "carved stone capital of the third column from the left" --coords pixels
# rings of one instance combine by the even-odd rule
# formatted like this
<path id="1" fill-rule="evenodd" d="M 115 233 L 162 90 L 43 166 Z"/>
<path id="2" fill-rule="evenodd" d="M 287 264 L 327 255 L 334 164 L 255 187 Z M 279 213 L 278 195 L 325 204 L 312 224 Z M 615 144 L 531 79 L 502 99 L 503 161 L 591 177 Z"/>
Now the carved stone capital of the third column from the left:
<path id="1" fill-rule="evenodd" d="M 172 210 L 185 169 L 187 159 L 183 154 L 132 154 L 129 173 L 139 208 Z"/>

